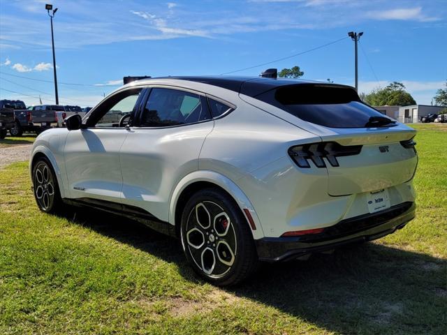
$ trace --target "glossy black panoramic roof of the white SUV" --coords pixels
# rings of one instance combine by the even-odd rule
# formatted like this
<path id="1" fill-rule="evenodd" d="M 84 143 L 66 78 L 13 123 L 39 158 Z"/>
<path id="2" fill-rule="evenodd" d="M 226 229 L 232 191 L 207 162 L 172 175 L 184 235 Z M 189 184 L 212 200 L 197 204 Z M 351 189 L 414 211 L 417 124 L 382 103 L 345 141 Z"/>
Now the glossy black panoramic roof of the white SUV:
<path id="1" fill-rule="evenodd" d="M 203 82 L 204 84 L 210 84 L 223 89 L 230 89 L 231 91 L 239 92 L 246 96 L 255 97 L 259 94 L 270 91 L 281 86 L 295 85 L 295 84 L 324 84 L 323 82 L 315 82 L 312 80 L 296 80 L 296 79 L 273 79 L 263 77 L 160 77 L 154 79 L 177 79 L 188 80 L 190 82 Z"/>

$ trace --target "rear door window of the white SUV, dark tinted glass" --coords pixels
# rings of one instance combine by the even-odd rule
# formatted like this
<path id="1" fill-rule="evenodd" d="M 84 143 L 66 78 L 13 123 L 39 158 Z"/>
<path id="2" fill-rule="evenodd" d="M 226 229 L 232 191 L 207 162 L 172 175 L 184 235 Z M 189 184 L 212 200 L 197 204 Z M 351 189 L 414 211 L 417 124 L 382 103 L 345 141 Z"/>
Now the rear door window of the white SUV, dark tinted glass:
<path id="1" fill-rule="evenodd" d="M 177 89 L 154 88 L 142 110 L 141 127 L 193 124 L 211 119 L 205 97 Z"/>

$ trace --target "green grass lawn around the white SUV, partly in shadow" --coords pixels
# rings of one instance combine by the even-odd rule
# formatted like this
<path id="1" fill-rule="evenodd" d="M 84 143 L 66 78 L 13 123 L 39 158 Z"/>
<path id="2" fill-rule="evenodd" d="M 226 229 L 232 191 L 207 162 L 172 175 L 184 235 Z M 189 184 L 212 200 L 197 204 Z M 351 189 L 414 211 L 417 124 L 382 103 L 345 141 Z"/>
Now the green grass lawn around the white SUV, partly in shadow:
<path id="1" fill-rule="evenodd" d="M 418 214 L 374 243 L 265 265 L 237 288 L 116 216 L 38 211 L 0 170 L 0 334 L 446 334 L 447 126 L 418 125 Z"/>

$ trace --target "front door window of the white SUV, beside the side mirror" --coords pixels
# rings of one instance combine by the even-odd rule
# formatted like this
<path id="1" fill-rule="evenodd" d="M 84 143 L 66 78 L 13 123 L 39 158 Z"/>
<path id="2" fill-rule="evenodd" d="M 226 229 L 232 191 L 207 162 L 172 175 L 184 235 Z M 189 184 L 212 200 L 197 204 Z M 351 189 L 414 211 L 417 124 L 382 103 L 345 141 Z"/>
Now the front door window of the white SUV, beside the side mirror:
<path id="1" fill-rule="evenodd" d="M 140 92 L 141 89 L 129 89 L 111 96 L 91 114 L 87 121 L 87 126 L 98 128 L 119 126 L 119 120 L 133 112 Z"/>

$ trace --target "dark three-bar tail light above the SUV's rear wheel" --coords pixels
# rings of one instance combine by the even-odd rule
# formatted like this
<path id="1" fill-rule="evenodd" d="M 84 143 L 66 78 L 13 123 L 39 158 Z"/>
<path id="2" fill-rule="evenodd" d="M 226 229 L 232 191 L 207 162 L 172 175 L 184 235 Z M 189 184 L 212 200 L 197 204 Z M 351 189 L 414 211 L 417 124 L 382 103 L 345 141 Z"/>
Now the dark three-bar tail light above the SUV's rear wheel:
<path id="1" fill-rule="evenodd" d="M 325 168 L 323 158 L 326 158 L 330 165 L 337 167 L 337 157 L 358 155 L 361 150 L 362 145 L 344 146 L 337 142 L 318 142 L 296 145 L 288 149 L 288 154 L 300 168 L 310 168 L 309 161 L 314 162 L 317 168 Z"/>

